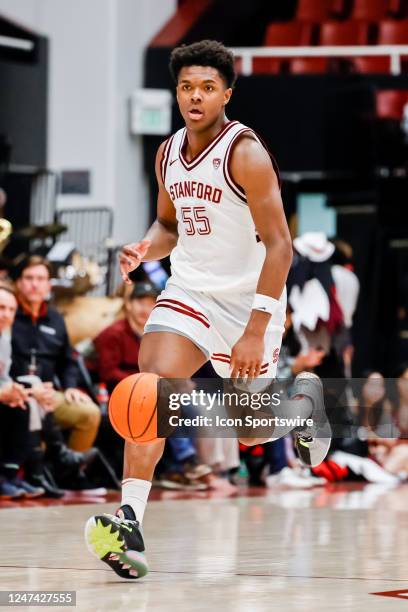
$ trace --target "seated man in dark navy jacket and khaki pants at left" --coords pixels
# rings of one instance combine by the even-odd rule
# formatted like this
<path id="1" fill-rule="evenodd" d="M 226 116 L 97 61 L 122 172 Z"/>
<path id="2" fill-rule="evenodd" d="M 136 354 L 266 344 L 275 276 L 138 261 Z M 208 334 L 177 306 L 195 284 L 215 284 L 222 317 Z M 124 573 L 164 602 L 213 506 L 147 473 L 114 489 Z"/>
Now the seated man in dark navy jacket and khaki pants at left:
<path id="1" fill-rule="evenodd" d="M 88 395 L 77 389 L 79 369 L 64 319 L 47 302 L 49 262 L 36 255 L 28 257 L 19 269 L 16 287 L 19 306 L 12 330 L 11 375 L 36 374 L 47 382 L 44 393 L 52 397 L 57 423 L 70 432 L 70 448 L 87 451 L 95 441 L 101 414 Z"/>

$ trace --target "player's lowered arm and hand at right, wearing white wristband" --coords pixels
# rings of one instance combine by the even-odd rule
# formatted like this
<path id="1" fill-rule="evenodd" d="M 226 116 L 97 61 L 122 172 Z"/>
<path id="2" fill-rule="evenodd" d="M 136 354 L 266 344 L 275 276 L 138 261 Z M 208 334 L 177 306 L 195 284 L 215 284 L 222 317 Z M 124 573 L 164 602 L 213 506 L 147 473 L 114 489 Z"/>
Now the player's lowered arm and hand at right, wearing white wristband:
<path id="1" fill-rule="evenodd" d="M 283 211 L 278 178 L 264 147 L 253 137 L 243 137 L 231 159 L 234 180 L 244 189 L 255 227 L 266 256 L 256 292 L 279 300 L 292 262 L 292 240 Z M 266 327 L 271 315 L 252 310 L 242 338 L 231 355 L 232 376 L 248 369 L 253 376 L 262 365 Z"/>

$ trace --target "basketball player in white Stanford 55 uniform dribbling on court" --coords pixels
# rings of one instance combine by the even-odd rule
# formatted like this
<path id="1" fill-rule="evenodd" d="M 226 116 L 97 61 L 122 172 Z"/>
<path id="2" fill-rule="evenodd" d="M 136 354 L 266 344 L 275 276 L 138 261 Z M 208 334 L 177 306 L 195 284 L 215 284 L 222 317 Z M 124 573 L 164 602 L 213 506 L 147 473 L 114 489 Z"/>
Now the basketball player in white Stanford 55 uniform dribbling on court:
<path id="1" fill-rule="evenodd" d="M 224 378 L 273 379 L 292 261 L 278 170 L 258 136 L 225 115 L 235 82 L 230 51 L 208 40 L 182 46 L 170 70 L 185 128 L 157 152 L 156 221 L 120 256 L 126 282 L 142 261 L 171 256 L 172 275 L 145 326 L 140 371 L 186 379 L 211 359 Z M 300 457 L 315 465 L 330 441 L 321 383 L 303 373 L 295 389 L 302 416 L 319 424 L 296 434 Z M 121 507 L 86 525 L 90 551 L 123 578 L 147 573 L 140 524 L 163 447 L 164 440 L 126 442 Z"/>

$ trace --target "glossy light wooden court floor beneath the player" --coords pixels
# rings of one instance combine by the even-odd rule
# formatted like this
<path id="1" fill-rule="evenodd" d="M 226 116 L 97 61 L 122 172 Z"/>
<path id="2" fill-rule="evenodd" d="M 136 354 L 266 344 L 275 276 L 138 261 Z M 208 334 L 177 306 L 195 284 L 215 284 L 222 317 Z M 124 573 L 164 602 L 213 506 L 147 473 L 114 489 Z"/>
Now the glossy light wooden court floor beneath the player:
<path id="1" fill-rule="evenodd" d="M 408 485 L 164 495 L 145 516 L 151 572 L 132 582 L 83 542 L 116 506 L 1 509 L 0 590 L 76 590 L 92 612 L 408 610 Z"/>

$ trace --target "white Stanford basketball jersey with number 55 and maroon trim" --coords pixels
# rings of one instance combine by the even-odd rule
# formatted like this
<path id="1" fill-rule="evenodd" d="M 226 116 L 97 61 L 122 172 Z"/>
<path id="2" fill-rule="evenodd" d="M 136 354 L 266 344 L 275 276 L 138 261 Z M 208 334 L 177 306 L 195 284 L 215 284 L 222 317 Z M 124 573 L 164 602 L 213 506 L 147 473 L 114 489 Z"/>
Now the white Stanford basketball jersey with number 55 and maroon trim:
<path id="1" fill-rule="evenodd" d="M 186 129 L 166 142 L 161 161 L 174 203 L 178 242 L 170 256 L 172 280 L 209 293 L 254 291 L 265 260 L 245 192 L 230 173 L 234 142 L 250 128 L 227 123 L 192 160 L 185 158 Z"/>

